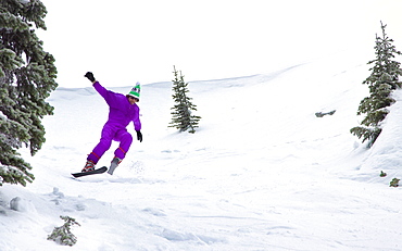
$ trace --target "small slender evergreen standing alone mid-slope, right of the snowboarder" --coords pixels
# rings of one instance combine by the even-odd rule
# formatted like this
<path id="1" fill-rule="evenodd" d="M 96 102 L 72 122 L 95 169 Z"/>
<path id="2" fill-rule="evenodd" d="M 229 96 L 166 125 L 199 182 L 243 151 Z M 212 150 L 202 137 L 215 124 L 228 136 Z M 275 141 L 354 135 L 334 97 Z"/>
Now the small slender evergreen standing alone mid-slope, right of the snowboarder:
<path id="1" fill-rule="evenodd" d="M 175 105 L 172 108 L 174 110 L 171 114 L 173 115 L 169 127 L 175 127 L 180 131 L 196 133 L 194 128 L 198 127 L 198 122 L 201 120 L 200 116 L 191 115 L 191 111 L 197 111 L 196 105 L 191 103 L 191 98 L 187 97 L 189 92 L 187 86 L 188 83 L 185 83 L 184 76 L 178 75 L 176 67 L 174 66 L 175 79 L 173 81 L 173 91 L 172 96 Z"/>

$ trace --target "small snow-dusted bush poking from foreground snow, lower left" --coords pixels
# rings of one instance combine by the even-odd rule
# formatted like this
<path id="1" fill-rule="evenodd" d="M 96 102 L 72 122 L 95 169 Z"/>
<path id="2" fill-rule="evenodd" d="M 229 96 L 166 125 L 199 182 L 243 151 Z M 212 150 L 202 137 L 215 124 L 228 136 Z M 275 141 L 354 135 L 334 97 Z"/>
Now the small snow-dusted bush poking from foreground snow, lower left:
<path id="1" fill-rule="evenodd" d="M 61 227 L 54 227 L 52 234 L 48 236 L 48 240 L 54 240 L 59 244 L 63 246 L 73 246 L 77 242 L 77 237 L 71 233 L 70 227 L 73 225 L 80 226 L 75 218 L 72 218 L 70 216 L 60 216 L 62 219 L 64 219 L 64 225 Z"/>

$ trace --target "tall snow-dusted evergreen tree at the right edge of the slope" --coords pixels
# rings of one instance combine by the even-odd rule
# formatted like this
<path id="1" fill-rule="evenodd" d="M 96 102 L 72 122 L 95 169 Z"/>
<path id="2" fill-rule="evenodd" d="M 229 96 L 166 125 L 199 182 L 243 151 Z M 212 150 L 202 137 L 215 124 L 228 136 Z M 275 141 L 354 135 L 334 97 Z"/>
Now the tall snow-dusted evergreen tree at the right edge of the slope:
<path id="1" fill-rule="evenodd" d="M 389 113 L 387 106 L 390 106 L 395 100 L 391 93 L 397 88 L 401 87 L 399 76 L 402 75 L 400 68 L 401 63 L 393 60 L 395 54 L 401 54 L 392 45 L 393 40 L 386 34 L 387 25 L 382 25 L 382 36 L 376 35 L 376 59 L 369 61 L 368 64 L 374 64 L 369 71 L 372 74 L 363 81 L 368 85 L 369 97 L 364 98 L 359 106 L 357 115 L 366 114 L 361 122 L 362 126 L 353 127 L 350 131 L 363 138 L 363 142 L 368 140 L 368 146 L 373 146 L 381 133 L 381 121 Z"/>

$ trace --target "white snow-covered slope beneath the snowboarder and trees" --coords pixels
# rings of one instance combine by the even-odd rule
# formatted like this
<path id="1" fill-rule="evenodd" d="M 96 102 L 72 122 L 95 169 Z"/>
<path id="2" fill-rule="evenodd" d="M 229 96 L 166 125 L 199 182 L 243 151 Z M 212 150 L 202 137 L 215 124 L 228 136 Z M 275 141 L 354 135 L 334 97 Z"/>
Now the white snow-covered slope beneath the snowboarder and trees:
<path id="1" fill-rule="evenodd" d="M 367 95 L 365 62 L 338 53 L 190 83 L 202 117 L 194 135 L 167 128 L 171 83 L 145 85 L 143 142 L 115 175 L 81 179 L 70 173 L 98 142 L 108 108 L 91 87 L 59 88 L 49 98 L 54 116 L 43 121 L 47 142 L 27 156 L 36 180 L 0 188 L 0 250 L 402 249 L 401 191 L 388 187 L 402 176 L 402 92 L 367 150 L 349 133 Z M 10 209 L 15 197 L 18 211 Z M 73 248 L 47 240 L 60 215 L 81 225 Z"/>

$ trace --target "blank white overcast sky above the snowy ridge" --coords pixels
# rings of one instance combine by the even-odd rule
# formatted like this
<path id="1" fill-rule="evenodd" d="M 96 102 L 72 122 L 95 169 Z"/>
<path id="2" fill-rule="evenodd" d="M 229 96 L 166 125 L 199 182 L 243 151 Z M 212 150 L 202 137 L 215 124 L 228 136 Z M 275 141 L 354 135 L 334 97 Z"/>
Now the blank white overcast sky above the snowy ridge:
<path id="1" fill-rule="evenodd" d="M 402 50 L 401 0 L 42 0 L 59 86 L 269 73 L 342 50 L 373 53 L 380 21 Z M 364 61 L 366 59 L 363 59 Z M 366 63 L 362 62 L 362 63 Z"/>

